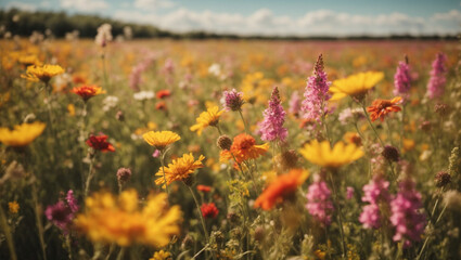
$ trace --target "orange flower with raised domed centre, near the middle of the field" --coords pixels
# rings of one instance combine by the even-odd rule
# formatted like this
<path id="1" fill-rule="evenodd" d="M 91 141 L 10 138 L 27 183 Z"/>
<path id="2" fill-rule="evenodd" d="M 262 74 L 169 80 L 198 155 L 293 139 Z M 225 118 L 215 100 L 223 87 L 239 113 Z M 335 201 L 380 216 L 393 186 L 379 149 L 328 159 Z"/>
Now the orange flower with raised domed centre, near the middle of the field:
<path id="1" fill-rule="evenodd" d="M 247 159 L 256 159 L 269 150 L 269 143 L 256 145 L 255 139 L 246 133 L 241 133 L 233 139 L 230 151 L 221 151 L 221 159 L 232 159 L 236 162 L 243 162 Z M 233 156 L 232 156 L 233 155 Z"/>

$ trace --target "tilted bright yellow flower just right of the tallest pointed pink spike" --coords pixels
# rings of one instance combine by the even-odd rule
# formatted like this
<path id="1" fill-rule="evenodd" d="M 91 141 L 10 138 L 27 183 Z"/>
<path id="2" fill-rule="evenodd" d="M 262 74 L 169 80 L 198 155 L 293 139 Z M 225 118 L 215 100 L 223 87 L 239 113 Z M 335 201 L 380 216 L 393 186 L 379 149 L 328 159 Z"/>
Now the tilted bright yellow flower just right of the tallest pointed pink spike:
<path id="1" fill-rule="evenodd" d="M 347 95 L 361 99 L 369 89 L 373 88 L 383 78 L 383 73 L 367 72 L 337 79 L 333 81 L 333 84 L 330 87 L 330 92 L 333 94 L 330 100 L 336 101 Z"/>

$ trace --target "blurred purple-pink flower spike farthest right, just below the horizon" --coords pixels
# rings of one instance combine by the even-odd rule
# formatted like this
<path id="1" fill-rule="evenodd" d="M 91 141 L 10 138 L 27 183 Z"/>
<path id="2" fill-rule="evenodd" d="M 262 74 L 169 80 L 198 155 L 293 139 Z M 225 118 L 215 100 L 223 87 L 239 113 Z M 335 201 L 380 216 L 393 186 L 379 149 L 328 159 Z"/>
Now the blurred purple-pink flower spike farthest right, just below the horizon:
<path id="1" fill-rule="evenodd" d="M 445 62 L 447 61 L 447 55 L 439 52 L 437 57 L 432 63 L 431 79 L 427 83 L 427 96 L 430 99 L 438 99 L 445 92 L 445 83 L 447 79 L 445 74 L 447 68 L 445 67 Z"/>

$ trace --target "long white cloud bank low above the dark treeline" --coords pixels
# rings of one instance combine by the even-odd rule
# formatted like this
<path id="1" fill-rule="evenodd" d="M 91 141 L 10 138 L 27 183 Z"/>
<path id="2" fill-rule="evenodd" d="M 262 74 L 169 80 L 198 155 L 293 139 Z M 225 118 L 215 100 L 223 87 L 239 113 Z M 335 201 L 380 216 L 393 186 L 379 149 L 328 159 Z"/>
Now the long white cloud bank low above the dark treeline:
<path id="1" fill-rule="evenodd" d="M 457 10 L 423 18 L 404 13 L 353 15 L 331 10 L 318 10 L 300 17 L 290 17 L 274 15 L 268 9 L 260 9 L 244 16 L 236 13 L 194 12 L 181 8 L 165 15 L 153 15 L 142 11 L 119 11 L 115 13 L 115 17 L 150 23 L 179 32 L 204 30 L 265 36 L 388 36 L 395 34 L 419 36 L 461 31 L 461 12 Z"/>

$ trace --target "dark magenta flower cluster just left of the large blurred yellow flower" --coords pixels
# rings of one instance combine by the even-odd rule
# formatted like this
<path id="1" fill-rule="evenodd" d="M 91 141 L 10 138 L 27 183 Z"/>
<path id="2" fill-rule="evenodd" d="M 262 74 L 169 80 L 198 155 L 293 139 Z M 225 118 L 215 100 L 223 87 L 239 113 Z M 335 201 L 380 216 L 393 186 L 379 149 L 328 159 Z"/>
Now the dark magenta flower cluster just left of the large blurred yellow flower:
<path id="1" fill-rule="evenodd" d="M 60 227 L 64 234 L 67 234 L 78 208 L 78 203 L 74 197 L 74 192 L 69 190 L 65 199 L 60 199 L 55 205 L 48 206 L 47 210 L 44 210 L 44 214 L 47 216 L 47 219 Z"/>

